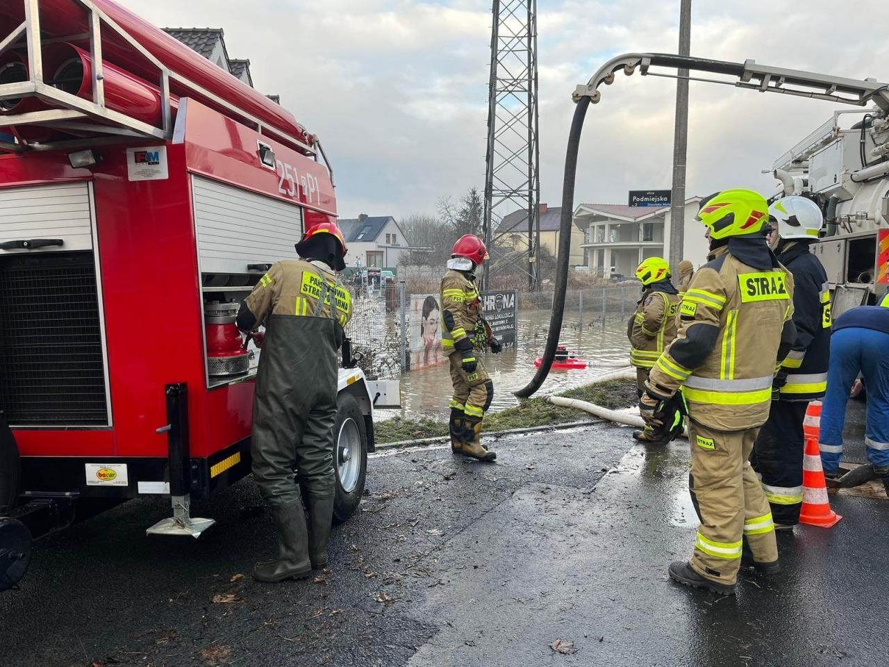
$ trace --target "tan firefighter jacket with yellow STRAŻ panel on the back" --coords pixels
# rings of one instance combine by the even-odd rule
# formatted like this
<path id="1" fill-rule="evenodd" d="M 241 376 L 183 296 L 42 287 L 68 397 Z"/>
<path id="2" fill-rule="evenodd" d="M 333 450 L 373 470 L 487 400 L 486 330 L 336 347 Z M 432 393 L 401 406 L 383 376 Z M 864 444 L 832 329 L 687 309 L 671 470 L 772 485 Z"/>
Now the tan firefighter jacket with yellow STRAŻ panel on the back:
<path id="1" fill-rule="evenodd" d="M 677 338 L 646 390 L 669 398 L 681 387 L 693 421 L 753 429 L 768 417 L 777 364 L 796 341 L 793 277 L 764 237 L 730 239 L 710 259 L 688 286 Z"/>

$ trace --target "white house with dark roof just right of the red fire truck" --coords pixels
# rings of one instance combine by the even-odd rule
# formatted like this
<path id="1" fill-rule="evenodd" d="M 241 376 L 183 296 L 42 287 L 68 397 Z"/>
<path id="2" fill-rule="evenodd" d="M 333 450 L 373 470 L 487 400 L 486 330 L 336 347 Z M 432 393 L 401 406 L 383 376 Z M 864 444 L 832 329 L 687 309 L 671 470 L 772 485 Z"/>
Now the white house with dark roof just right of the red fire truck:
<path id="1" fill-rule="evenodd" d="M 357 218 L 340 218 L 337 224 L 346 239 L 347 266 L 390 269 L 406 258 L 407 239 L 391 215 L 361 213 Z"/>

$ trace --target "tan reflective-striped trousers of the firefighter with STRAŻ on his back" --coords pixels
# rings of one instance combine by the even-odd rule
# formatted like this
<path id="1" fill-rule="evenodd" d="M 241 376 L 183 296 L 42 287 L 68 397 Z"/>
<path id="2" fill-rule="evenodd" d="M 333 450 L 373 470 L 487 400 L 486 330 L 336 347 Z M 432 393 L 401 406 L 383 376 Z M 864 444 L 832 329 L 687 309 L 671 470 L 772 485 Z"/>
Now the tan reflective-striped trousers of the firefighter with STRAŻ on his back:
<path id="1" fill-rule="evenodd" d="M 701 519 L 689 562 L 701 576 L 735 583 L 742 539 L 757 562 L 778 559 L 772 511 L 749 463 L 759 429 L 714 430 L 689 420 L 688 431 L 692 448 L 689 490 Z"/>

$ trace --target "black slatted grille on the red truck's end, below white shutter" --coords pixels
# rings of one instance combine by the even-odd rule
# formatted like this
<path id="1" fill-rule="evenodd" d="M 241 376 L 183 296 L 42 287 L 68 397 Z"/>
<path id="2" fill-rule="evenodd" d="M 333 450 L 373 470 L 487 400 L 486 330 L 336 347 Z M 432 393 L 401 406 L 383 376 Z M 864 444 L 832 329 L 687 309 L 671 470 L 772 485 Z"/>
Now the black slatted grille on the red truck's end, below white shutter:
<path id="1" fill-rule="evenodd" d="M 108 424 L 92 252 L 0 257 L 0 406 L 16 426 Z"/>

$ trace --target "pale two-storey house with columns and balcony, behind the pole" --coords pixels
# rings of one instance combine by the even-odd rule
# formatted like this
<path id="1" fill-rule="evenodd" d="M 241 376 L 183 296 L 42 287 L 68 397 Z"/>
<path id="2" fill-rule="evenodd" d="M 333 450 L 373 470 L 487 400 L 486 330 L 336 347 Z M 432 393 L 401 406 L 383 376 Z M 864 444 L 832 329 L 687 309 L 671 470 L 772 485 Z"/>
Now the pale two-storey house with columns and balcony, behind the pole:
<path id="1" fill-rule="evenodd" d="M 703 227 L 694 222 L 701 197 L 685 202 L 684 259 L 695 267 L 707 261 Z M 603 277 L 632 276 L 648 257 L 669 254 L 670 207 L 581 204 L 574 209 L 574 227 L 581 230 L 582 263 Z"/>

